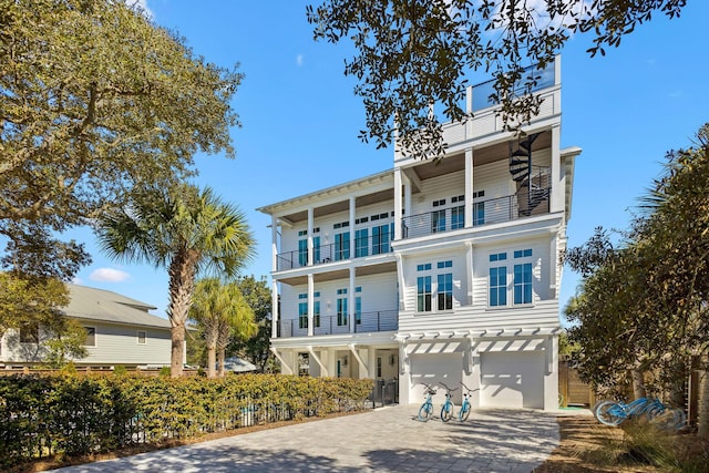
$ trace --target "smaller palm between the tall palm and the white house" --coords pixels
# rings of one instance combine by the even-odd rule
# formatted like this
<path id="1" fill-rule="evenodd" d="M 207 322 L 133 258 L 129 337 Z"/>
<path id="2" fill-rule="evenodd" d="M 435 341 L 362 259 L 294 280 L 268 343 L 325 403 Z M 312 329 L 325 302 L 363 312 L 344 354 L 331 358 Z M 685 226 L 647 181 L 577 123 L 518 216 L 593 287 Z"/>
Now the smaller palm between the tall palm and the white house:
<path id="1" fill-rule="evenodd" d="M 202 328 L 207 345 L 207 377 L 216 377 L 216 354 L 219 354 L 219 377 L 224 377 L 225 349 L 232 337 L 249 339 L 257 331 L 254 310 L 235 282 L 222 284 L 217 278 L 197 282 L 189 318 Z"/>

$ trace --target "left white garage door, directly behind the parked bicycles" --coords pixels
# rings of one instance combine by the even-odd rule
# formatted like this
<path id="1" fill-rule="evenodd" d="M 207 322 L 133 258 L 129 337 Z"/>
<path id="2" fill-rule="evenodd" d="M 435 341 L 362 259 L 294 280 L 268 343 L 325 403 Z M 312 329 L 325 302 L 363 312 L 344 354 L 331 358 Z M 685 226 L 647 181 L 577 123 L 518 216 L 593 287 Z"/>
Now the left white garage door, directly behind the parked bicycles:
<path id="1" fill-rule="evenodd" d="M 411 403 L 417 404 L 424 399 L 424 383 L 438 385 L 433 397 L 435 403 L 443 402 L 445 390 L 441 382 L 458 391 L 453 392 L 453 402 L 461 402 L 461 377 L 463 372 L 462 353 L 411 354 Z"/>

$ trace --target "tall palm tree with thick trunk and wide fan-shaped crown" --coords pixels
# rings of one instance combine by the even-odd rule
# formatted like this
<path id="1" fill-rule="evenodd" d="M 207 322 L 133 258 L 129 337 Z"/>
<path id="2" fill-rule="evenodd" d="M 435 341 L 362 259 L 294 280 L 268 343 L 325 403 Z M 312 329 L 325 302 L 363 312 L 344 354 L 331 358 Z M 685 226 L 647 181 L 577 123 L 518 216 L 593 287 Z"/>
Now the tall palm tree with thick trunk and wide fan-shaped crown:
<path id="1" fill-rule="evenodd" d="M 127 263 L 167 268 L 172 325 L 171 376 L 182 376 L 185 323 L 202 271 L 234 277 L 254 255 L 245 215 L 209 187 L 183 184 L 138 191 L 124 209 L 97 228 L 101 248 Z"/>

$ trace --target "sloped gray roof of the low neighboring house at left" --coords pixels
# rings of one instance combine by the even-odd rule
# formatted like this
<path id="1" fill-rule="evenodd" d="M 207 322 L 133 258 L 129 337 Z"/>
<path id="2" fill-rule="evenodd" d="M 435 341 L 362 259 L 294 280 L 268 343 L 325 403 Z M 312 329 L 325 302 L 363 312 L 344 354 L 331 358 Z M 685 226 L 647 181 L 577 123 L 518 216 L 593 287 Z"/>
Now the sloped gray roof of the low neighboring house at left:
<path id="1" fill-rule="evenodd" d="M 73 319 L 169 329 L 169 320 L 148 313 L 156 309 L 140 300 L 92 287 L 68 285 L 71 301 L 63 312 Z"/>

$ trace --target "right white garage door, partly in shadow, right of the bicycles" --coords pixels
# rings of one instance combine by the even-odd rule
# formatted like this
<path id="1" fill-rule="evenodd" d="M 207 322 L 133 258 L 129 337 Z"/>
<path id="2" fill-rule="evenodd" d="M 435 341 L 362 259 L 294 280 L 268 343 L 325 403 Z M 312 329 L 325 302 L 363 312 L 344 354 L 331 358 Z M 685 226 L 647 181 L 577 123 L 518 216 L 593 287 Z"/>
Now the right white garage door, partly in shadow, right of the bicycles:
<path id="1" fill-rule="evenodd" d="M 544 409 L 544 352 L 481 353 L 480 405 Z"/>

